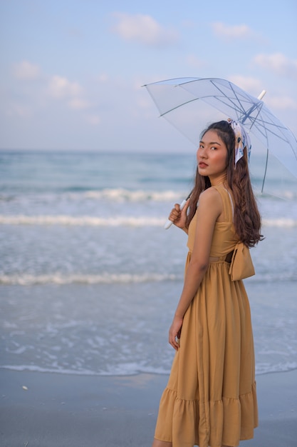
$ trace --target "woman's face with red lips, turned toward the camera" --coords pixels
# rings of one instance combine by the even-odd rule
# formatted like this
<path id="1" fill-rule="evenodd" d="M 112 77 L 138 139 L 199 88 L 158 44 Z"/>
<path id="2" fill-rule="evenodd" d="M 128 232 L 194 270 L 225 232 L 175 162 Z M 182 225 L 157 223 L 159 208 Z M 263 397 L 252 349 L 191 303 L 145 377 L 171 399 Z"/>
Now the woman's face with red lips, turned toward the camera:
<path id="1" fill-rule="evenodd" d="M 226 174 L 228 151 L 224 141 L 214 130 L 207 131 L 202 136 L 197 150 L 197 164 L 199 174 L 216 179 Z"/>

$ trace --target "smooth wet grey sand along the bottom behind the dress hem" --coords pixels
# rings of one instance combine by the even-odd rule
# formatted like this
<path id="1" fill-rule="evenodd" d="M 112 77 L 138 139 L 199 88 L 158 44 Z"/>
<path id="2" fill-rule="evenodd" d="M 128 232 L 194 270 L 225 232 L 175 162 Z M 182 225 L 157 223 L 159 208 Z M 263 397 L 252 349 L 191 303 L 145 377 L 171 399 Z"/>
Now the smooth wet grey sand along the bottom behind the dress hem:
<path id="1" fill-rule="evenodd" d="M 259 428 L 246 447 L 297 446 L 297 371 L 256 377 Z M 2 447 L 150 447 L 167 376 L 0 371 Z"/>

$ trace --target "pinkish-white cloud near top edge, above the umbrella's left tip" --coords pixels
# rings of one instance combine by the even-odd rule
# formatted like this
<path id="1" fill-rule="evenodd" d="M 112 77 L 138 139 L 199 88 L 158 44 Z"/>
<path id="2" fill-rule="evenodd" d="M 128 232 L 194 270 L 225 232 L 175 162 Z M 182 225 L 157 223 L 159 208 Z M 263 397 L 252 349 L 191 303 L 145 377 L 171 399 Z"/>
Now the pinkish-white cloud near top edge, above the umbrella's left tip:
<path id="1" fill-rule="evenodd" d="M 125 40 L 156 46 L 174 44 L 178 39 L 177 31 L 163 28 L 152 16 L 120 12 L 114 16 L 118 23 L 113 31 Z"/>

